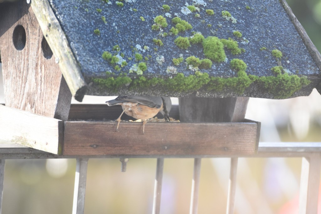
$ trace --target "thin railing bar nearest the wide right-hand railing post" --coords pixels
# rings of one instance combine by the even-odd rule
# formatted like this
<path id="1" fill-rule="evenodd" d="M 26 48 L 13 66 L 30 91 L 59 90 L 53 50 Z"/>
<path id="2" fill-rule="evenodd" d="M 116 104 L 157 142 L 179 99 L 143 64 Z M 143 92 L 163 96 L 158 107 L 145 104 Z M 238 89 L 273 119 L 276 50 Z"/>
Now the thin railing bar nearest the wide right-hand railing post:
<path id="1" fill-rule="evenodd" d="M 235 192 L 236 192 L 236 175 L 237 175 L 237 169 L 238 169 L 238 160 L 239 160 L 239 158 L 231 158 L 229 193 L 227 195 L 226 214 L 233 214 L 234 213 L 234 202 L 235 202 Z"/>

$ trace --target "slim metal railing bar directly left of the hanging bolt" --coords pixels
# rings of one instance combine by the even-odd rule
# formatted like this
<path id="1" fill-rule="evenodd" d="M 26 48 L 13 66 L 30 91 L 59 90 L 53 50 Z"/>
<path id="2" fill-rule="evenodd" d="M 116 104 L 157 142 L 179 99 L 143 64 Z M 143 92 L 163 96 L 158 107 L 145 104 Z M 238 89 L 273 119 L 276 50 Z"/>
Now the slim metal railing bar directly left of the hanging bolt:
<path id="1" fill-rule="evenodd" d="M 83 214 L 85 208 L 88 158 L 77 158 L 76 160 L 73 214 Z"/>

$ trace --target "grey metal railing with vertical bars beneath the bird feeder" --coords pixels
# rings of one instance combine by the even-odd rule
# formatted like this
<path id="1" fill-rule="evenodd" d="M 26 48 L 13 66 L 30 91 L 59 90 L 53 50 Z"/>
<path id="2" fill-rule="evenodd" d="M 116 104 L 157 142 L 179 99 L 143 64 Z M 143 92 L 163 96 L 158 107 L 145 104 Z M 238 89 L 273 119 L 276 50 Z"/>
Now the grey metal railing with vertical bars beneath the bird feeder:
<path id="1" fill-rule="evenodd" d="M 21 158 L 76 158 L 76 174 L 74 183 L 74 202 L 73 202 L 73 214 L 84 213 L 84 201 L 86 190 L 86 178 L 87 178 L 87 164 L 89 158 L 113 158 L 106 156 L 83 156 L 83 157 L 71 157 L 71 156 L 57 156 L 50 153 L 42 152 L 39 150 L 33 150 L 27 147 L 19 146 L 16 144 L 8 143 L 2 144 L 0 148 L 0 200 L 2 202 L 3 184 L 4 184 L 4 165 L 5 159 L 21 159 Z M 190 203 L 190 214 L 197 213 L 198 207 L 198 192 L 200 184 L 200 172 L 201 172 L 201 158 L 216 158 L 216 157 L 228 157 L 228 156 L 204 156 L 196 157 L 194 161 L 194 174 L 192 181 L 192 193 Z M 269 157 L 302 157 L 301 168 L 301 181 L 300 181 L 300 196 L 299 196 L 299 213 L 313 214 L 317 213 L 317 201 L 320 184 L 320 167 L 321 167 L 321 142 L 279 142 L 279 143 L 267 143 L 261 142 L 259 144 L 259 150 L 257 154 L 242 156 L 247 158 L 269 158 Z M 119 157 L 117 157 L 119 158 Z M 126 158 L 133 157 L 121 157 L 123 159 L 122 168 L 126 167 Z M 154 201 L 152 213 L 160 213 L 161 210 L 161 190 L 162 190 L 162 176 L 164 158 L 156 157 L 156 178 L 154 187 Z M 192 157 L 191 157 L 192 158 Z M 230 167 L 230 180 L 229 190 L 227 197 L 227 214 L 234 213 L 234 200 L 236 192 L 236 177 L 237 177 L 237 165 L 238 158 L 241 157 L 228 157 L 231 158 Z M 242 170 L 242 169 L 239 169 Z M 1 211 L 1 207 L 0 207 Z"/>

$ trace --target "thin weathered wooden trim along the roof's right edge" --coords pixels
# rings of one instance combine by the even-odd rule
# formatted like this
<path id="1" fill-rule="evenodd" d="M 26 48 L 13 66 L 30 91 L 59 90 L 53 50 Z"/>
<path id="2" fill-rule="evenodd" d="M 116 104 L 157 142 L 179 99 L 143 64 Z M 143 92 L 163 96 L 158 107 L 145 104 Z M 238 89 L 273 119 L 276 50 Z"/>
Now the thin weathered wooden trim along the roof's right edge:
<path id="1" fill-rule="evenodd" d="M 301 39 L 303 40 L 303 43 L 308 48 L 308 51 L 312 57 L 312 59 L 316 62 L 317 66 L 321 70 L 321 55 L 319 51 L 317 50 L 316 46 L 312 43 L 310 37 L 308 36 L 307 32 L 302 27 L 301 23 L 298 21 L 298 19 L 293 14 L 290 6 L 288 3 L 286 3 L 285 0 L 280 0 L 285 12 L 288 14 L 290 20 L 294 24 L 295 29 L 298 31 Z"/>

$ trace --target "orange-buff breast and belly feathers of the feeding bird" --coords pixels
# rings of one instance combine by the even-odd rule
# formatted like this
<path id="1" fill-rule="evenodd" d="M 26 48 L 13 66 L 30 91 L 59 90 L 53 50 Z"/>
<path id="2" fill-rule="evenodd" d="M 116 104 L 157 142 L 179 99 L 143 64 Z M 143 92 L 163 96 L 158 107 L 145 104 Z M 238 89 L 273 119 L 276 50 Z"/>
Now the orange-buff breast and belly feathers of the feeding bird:
<path id="1" fill-rule="evenodd" d="M 147 120 L 157 115 L 157 113 L 162 109 L 163 104 L 160 108 L 151 108 L 139 103 L 124 102 L 121 104 L 126 115 L 132 116 L 136 119 Z"/>

